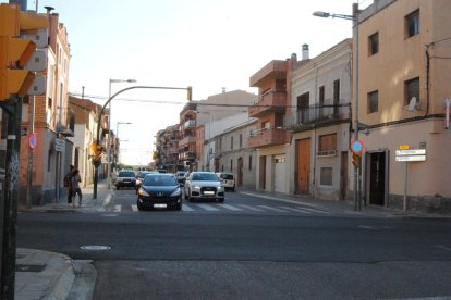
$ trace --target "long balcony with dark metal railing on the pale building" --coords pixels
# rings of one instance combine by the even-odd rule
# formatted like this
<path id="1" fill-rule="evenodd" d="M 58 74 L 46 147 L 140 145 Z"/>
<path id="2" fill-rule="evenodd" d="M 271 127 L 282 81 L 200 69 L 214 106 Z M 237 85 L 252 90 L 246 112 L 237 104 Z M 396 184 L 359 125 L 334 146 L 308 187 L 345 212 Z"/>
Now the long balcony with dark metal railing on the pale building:
<path id="1" fill-rule="evenodd" d="M 283 126 L 302 132 L 350 121 L 350 103 L 312 105 L 285 115 Z"/>

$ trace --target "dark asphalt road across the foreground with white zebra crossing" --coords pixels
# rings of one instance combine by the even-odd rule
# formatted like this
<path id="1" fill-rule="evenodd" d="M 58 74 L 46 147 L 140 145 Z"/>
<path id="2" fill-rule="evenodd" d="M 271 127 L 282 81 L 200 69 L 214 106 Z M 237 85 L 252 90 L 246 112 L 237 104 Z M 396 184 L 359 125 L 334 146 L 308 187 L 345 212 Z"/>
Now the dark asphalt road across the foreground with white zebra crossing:
<path id="1" fill-rule="evenodd" d="M 182 211 L 21 213 L 17 247 L 93 260 L 94 299 L 376 299 L 450 296 L 449 218 L 362 217 L 228 192 Z"/>

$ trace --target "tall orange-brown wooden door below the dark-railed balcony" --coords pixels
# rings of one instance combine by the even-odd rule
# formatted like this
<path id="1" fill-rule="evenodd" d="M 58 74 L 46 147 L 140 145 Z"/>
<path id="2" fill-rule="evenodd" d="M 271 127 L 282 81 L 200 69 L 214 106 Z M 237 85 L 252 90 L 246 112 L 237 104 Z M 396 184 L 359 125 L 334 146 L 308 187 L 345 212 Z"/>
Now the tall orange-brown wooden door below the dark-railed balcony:
<path id="1" fill-rule="evenodd" d="M 310 139 L 300 139 L 296 141 L 297 154 L 297 180 L 296 192 L 308 193 L 310 177 Z"/>

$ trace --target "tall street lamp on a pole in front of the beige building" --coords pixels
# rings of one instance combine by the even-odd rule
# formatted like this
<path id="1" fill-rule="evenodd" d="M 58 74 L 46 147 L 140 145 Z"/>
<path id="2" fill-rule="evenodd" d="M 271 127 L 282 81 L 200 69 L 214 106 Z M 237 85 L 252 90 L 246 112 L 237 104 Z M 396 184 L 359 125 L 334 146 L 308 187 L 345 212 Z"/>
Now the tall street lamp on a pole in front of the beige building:
<path id="1" fill-rule="evenodd" d="M 319 17 L 337 17 L 337 18 L 344 18 L 351 20 L 353 22 L 353 34 L 355 35 L 355 103 L 354 103 L 354 140 L 358 139 L 358 3 L 354 3 L 352 5 L 352 15 L 348 14 L 330 14 L 327 12 L 317 11 L 314 12 L 314 16 Z M 354 210 L 359 211 L 362 210 L 362 202 L 359 197 L 361 191 L 361 180 L 358 178 L 358 167 L 354 166 Z"/>

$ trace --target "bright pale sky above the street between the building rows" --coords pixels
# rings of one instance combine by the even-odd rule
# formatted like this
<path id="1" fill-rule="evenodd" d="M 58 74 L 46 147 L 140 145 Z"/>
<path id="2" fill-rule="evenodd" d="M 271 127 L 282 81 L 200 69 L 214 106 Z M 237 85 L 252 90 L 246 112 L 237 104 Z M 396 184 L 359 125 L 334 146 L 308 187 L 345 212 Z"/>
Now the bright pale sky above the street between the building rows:
<path id="1" fill-rule="evenodd" d="M 105 104 L 138 85 L 193 87 L 193 100 L 245 90 L 249 77 L 292 53 L 310 58 L 352 37 L 352 22 L 313 16 L 352 14 L 357 0 L 28 0 L 28 10 L 52 7 L 69 33 L 70 93 Z M 1 1 L 0 2 L 9 2 Z M 361 8 L 371 0 L 358 0 Z M 84 87 L 84 89 L 83 89 Z M 179 123 L 185 90 L 134 89 L 111 101 L 111 129 L 119 128 L 121 162 L 148 164 L 158 130 Z M 242 110 L 242 108 L 241 108 Z M 132 124 L 119 124 L 131 122 Z"/>

